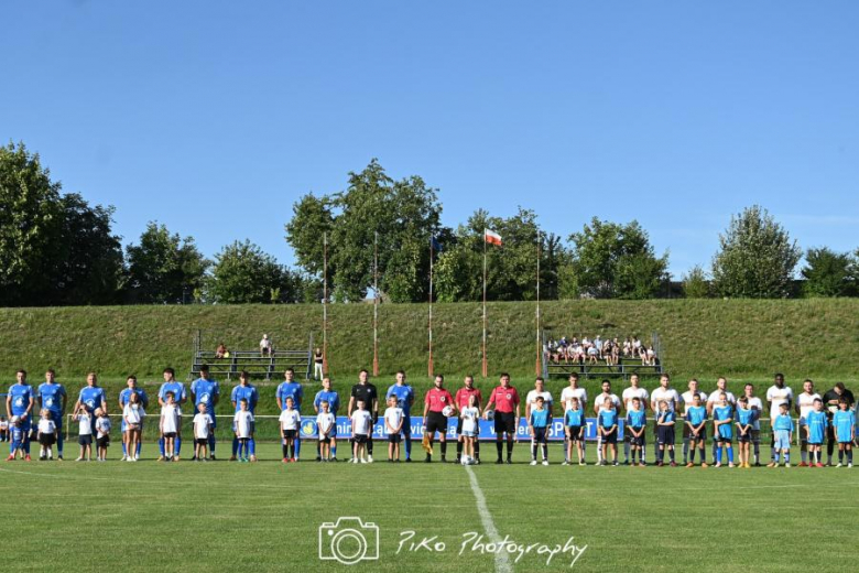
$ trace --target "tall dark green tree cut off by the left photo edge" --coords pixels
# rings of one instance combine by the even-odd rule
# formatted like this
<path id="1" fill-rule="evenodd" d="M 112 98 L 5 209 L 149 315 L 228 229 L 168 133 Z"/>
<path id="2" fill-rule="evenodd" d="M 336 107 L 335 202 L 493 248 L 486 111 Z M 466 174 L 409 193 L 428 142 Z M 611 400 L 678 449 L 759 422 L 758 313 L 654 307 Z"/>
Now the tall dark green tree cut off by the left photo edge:
<path id="1" fill-rule="evenodd" d="M 0 148 L 0 304 L 44 304 L 62 233 L 61 184 L 23 143 Z"/>

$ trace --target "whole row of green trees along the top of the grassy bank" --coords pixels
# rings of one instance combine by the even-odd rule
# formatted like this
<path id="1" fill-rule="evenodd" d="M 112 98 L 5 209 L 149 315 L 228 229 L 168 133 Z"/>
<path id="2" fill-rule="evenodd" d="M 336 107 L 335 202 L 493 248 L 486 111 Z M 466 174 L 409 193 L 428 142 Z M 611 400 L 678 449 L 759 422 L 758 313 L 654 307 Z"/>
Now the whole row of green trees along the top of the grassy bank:
<path id="1" fill-rule="evenodd" d="M 193 237 L 150 221 L 122 248 L 112 206 L 64 194 L 37 153 L 23 143 L 0 148 L 0 305 L 318 302 L 327 281 L 333 301 L 363 300 L 377 279 L 391 302 L 482 298 L 483 229 L 503 238 L 487 249 L 487 298 L 651 299 L 665 292 L 668 252 L 656 253 L 638 221 L 592 218 L 566 237 L 541 229 L 536 214 L 511 217 L 476 210 L 466 223 L 442 224 L 437 190 L 420 176 L 390 177 L 377 160 L 350 172 L 346 188 L 293 205 L 285 239 L 297 268 L 278 263 L 252 242 L 235 241 L 209 260 Z M 762 207 L 731 218 L 709 269 L 683 277 L 688 298 L 795 295 L 797 242 Z M 378 242 L 378 245 L 377 245 Z M 378 247 L 378 248 L 377 248 Z M 374 253 L 378 252 L 378 259 Z M 826 247 L 805 253 L 802 294 L 859 295 L 859 251 Z"/>

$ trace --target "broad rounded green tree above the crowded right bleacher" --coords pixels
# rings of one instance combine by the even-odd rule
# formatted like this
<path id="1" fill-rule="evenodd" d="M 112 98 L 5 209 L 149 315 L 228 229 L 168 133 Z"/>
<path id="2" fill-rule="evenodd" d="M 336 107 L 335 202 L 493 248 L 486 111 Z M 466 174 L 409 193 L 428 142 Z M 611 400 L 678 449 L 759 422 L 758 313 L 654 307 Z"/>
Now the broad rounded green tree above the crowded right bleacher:
<path id="1" fill-rule="evenodd" d="M 648 233 L 627 225 L 591 219 L 569 236 L 572 273 L 581 294 L 596 299 L 650 299 L 668 280 L 668 255 L 656 257 Z"/>

